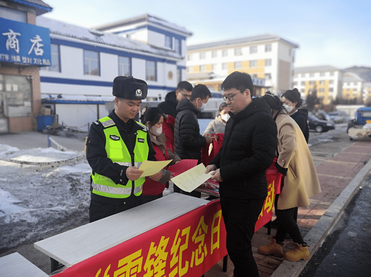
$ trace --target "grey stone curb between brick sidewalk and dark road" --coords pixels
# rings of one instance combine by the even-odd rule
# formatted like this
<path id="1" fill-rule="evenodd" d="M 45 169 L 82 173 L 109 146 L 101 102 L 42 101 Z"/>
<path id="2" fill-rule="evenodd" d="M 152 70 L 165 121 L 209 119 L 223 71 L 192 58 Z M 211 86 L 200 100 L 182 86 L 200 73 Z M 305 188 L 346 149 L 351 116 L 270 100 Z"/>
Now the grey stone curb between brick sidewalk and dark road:
<path id="1" fill-rule="evenodd" d="M 348 186 L 329 206 L 325 214 L 321 216 L 316 225 L 306 234 L 304 240 L 311 246 L 309 247 L 311 257 L 322 245 L 322 242 L 324 242 L 332 227 L 344 212 L 344 209 L 358 192 L 359 186 L 365 180 L 370 170 L 371 159 L 359 170 Z M 298 277 L 308 261 L 300 260 L 299 262 L 292 262 L 284 260 L 270 277 Z"/>

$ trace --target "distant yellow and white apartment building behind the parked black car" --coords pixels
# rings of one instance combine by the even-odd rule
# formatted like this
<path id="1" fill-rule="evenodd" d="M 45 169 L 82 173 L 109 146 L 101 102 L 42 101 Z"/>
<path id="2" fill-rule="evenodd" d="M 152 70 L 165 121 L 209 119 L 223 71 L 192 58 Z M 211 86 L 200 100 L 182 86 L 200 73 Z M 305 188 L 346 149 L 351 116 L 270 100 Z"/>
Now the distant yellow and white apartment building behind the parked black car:
<path id="1" fill-rule="evenodd" d="M 331 65 L 298 67 L 295 68 L 292 87 L 299 89 L 302 98 L 316 88 L 317 97 L 328 105 L 337 97 L 342 98 L 342 80 L 342 71 Z"/>

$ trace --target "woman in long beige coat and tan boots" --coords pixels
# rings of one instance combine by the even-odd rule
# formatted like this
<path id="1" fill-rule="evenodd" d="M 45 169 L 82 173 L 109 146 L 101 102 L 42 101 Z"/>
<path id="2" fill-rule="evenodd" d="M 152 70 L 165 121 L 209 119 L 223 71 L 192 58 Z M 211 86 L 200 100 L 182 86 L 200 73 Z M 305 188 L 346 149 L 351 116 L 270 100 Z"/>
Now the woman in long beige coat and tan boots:
<path id="1" fill-rule="evenodd" d="M 258 251 L 262 254 L 274 254 L 282 257 L 282 244 L 289 233 L 296 244 L 293 250 L 283 256 L 290 261 L 309 260 L 308 245 L 301 236 L 298 224 L 293 219 L 295 207 L 309 206 L 309 198 L 321 192 L 316 169 L 304 135 L 283 108 L 281 100 L 270 92 L 262 97 L 272 109 L 273 118 L 277 124 L 277 151 L 276 167 L 285 175 L 281 193 L 275 213 L 279 224 L 272 242 Z M 277 154 L 276 154 L 277 155 Z"/>

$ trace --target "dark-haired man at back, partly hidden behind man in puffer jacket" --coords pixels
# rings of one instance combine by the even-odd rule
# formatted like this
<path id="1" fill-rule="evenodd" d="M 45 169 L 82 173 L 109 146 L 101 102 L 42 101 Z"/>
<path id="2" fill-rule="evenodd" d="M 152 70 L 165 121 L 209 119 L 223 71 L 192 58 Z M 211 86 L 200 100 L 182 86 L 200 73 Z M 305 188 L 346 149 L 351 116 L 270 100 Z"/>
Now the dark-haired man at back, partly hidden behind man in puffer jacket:
<path id="1" fill-rule="evenodd" d="M 164 114 L 169 114 L 172 117 L 177 117 L 177 105 L 180 100 L 183 100 L 184 98 L 191 97 L 192 93 L 192 85 L 188 83 L 187 81 L 182 81 L 178 84 L 176 91 L 170 91 L 165 96 L 165 101 L 161 102 L 157 105 L 157 108 L 159 108 Z"/>

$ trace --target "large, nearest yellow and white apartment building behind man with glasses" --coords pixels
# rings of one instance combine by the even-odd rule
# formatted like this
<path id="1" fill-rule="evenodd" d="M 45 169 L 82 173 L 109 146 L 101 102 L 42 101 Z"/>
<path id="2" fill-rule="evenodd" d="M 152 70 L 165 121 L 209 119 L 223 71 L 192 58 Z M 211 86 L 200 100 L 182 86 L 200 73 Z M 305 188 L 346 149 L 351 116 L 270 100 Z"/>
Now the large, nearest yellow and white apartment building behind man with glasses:
<path id="1" fill-rule="evenodd" d="M 280 95 L 291 88 L 298 47 L 272 34 L 187 46 L 187 81 L 221 91 L 224 79 L 240 71 L 252 76 L 253 95 L 268 89 Z"/>

